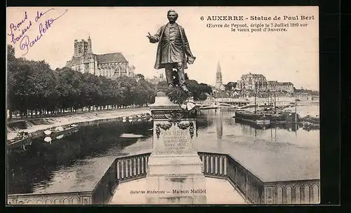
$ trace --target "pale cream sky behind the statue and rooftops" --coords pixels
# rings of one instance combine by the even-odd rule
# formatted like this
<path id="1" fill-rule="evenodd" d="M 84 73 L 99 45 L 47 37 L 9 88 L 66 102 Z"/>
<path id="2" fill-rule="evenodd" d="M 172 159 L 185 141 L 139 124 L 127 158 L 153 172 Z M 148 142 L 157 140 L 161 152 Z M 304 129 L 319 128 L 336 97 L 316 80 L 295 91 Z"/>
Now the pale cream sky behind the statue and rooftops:
<path id="1" fill-rule="evenodd" d="M 150 43 L 147 32 L 154 34 L 168 22 L 170 9 L 178 12 L 179 25 L 185 29 L 190 49 L 197 59 L 188 65 L 189 78 L 199 83 L 215 85 L 218 61 L 223 83 L 237 81 L 249 72 L 263 74 L 267 81 L 290 81 L 296 88 L 319 90 L 319 20 L 317 7 L 74 7 L 74 8 L 7 8 L 7 43 L 15 48 L 16 57 L 45 60 L 52 69 L 64 67 L 74 52 L 74 39 L 91 37 L 95 54 L 120 52 L 135 74 L 159 76 L 164 69 L 155 70 L 157 44 Z M 67 12 L 65 12 L 67 10 Z M 46 12 L 47 11 L 47 12 Z M 45 13 L 46 12 L 46 13 Z M 42 13 L 36 21 L 37 14 Z M 27 14 L 27 19 L 22 22 Z M 60 16 L 61 15 L 61 16 Z M 212 15 L 242 15 L 243 21 L 206 20 Z M 250 20 L 251 15 L 281 16 L 314 20 Z M 204 16 L 204 20 L 201 20 Z M 45 22 L 55 19 L 46 29 Z M 31 21 L 30 27 L 29 21 Z M 19 22 L 21 25 L 17 28 Z M 307 23 L 307 27 L 289 27 L 287 32 L 232 32 L 231 27 L 206 27 L 207 24 Z M 13 25 L 15 27 L 13 27 Z M 33 41 L 28 47 L 20 40 Z M 27 29 L 28 28 L 28 29 Z M 27 31 L 13 43 L 15 37 Z M 24 38 L 25 36 L 28 36 Z M 23 43 L 23 42 L 22 42 Z"/>

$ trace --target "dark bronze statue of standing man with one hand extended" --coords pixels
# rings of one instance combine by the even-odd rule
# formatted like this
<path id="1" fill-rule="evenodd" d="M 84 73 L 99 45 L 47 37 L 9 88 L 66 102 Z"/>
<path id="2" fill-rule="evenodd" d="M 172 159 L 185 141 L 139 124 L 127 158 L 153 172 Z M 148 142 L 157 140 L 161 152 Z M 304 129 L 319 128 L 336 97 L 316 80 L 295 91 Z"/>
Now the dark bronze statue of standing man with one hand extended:
<path id="1" fill-rule="evenodd" d="M 156 34 L 147 35 L 150 43 L 159 42 L 154 69 L 165 69 L 168 87 L 178 85 L 188 91 L 185 85 L 184 69 L 187 69 L 187 63 L 194 63 L 196 57 L 190 51 L 184 28 L 176 23 L 178 13 L 173 10 L 168 11 L 167 18 L 169 22 L 162 26 Z M 173 68 L 177 71 L 173 72 Z"/>

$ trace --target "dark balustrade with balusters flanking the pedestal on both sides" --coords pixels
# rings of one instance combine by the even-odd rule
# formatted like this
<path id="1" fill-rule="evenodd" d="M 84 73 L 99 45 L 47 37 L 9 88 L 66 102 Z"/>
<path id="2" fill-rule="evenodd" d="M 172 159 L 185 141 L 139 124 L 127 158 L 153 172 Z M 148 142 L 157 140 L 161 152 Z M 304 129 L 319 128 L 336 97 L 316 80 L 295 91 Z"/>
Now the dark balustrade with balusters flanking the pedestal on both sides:
<path id="1" fill-rule="evenodd" d="M 96 205 L 107 204 L 119 184 L 145 178 L 149 153 L 119 157 L 107 169 L 93 191 L 8 195 L 8 205 Z M 249 203 L 317 204 L 320 181 L 263 182 L 256 174 L 225 153 L 198 152 L 206 177 L 227 179 Z"/>

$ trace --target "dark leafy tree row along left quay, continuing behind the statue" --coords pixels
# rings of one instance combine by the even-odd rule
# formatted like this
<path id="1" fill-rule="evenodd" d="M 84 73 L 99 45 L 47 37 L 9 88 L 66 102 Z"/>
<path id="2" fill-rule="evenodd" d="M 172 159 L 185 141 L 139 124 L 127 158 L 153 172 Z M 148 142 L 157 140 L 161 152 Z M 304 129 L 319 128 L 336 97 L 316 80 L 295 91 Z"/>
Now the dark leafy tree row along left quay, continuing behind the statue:
<path id="1" fill-rule="evenodd" d="M 120 76 L 114 80 L 104 76 L 82 74 L 67 67 L 52 70 L 44 60 L 15 57 L 8 45 L 7 109 L 22 118 L 77 112 L 84 109 L 119 109 L 143 107 L 154 102 L 157 90 L 166 90 L 166 81 L 157 85 L 141 78 Z M 138 74 L 139 76 L 143 76 Z M 137 76 L 138 76 L 137 75 Z M 186 81 L 194 99 L 206 99 L 211 87 L 197 81 Z"/>

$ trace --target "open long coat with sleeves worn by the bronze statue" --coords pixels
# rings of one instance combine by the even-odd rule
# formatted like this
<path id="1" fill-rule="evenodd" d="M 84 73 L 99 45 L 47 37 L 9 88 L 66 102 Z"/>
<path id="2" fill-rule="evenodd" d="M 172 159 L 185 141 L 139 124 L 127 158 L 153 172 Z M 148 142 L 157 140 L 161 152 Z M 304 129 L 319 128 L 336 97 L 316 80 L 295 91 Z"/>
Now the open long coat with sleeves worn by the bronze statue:
<path id="1" fill-rule="evenodd" d="M 178 24 L 177 24 L 178 25 Z M 184 28 L 180 25 L 178 25 L 179 31 L 180 31 L 180 36 L 183 41 L 183 67 L 184 69 L 187 69 L 187 57 L 189 58 L 190 61 L 194 62 L 195 58 L 194 55 L 192 55 L 192 52 L 190 51 L 190 46 L 187 41 L 187 36 L 185 35 Z M 166 28 L 166 25 L 162 26 L 154 36 L 152 36 L 152 39 L 150 40 L 151 43 L 157 43 L 159 42 L 159 46 L 157 46 L 157 54 L 156 54 L 156 62 L 154 63 L 154 69 L 162 69 L 164 68 L 164 64 L 161 64 L 161 48 L 162 48 L 162 36 L 164 36 L 164 29 Z"/>

